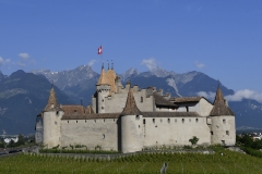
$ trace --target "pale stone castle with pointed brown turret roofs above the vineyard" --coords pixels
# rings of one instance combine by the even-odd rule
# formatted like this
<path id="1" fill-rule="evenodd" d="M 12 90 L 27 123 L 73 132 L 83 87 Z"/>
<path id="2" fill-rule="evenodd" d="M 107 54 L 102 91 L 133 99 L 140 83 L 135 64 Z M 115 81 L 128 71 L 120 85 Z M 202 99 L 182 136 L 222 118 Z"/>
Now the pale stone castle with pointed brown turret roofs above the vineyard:
<path id="1" fill-rule="evenodd" d="M 171 98 L 155 87 L 123 87 L 112 69 L 102 69 L 92 105 L 62 105 L 51 88 L 36 117 L 36 142 L 47 148 L 85 145 L 104 150 L 141 151 L 147 147 L 191 145 L 234 146 L 235 114 L 218 86 L 214 103 L 204 97 Z"/>

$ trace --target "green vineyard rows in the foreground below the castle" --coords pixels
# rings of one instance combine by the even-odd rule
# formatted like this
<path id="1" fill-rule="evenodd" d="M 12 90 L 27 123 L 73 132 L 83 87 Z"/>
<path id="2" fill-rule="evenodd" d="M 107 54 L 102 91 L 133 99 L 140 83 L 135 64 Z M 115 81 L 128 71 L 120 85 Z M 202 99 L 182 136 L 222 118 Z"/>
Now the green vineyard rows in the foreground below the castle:
<path id="1" fill-rule="evenodd" d="M 19 154 L 0 158 L 0 173 L 159 173 L 164 162 L 171 174 L 262 173 L 262 159 L 223 148 L 215 154 L 145 153 L 112 161 Z"/>

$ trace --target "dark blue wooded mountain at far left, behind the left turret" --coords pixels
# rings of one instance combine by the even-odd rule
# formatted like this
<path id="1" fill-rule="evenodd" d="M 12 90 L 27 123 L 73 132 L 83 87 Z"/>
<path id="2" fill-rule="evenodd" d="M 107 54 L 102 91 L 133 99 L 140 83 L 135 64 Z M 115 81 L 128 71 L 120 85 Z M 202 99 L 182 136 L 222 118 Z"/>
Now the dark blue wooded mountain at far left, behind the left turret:
<path id="1" fill-rule="evenodd" d="M 0 80 L 0 134 L 34 133 L 36 115 L 45 108 L 51 83 L 44 76 L 17 71 Z M 55 87 L 58 100 L 73 103 Z"/>

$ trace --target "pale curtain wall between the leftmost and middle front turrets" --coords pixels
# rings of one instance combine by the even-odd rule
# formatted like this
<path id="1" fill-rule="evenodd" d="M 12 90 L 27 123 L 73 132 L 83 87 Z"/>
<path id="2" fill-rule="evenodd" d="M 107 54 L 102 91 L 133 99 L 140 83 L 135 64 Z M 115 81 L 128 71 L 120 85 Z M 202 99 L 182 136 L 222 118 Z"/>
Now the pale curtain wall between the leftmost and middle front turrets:
<path id="1" fill-rule="evenodd" d="M 62 120 L 61 146 L 85 145 L 90 149 L 118 150 L 117 119 Z"/>

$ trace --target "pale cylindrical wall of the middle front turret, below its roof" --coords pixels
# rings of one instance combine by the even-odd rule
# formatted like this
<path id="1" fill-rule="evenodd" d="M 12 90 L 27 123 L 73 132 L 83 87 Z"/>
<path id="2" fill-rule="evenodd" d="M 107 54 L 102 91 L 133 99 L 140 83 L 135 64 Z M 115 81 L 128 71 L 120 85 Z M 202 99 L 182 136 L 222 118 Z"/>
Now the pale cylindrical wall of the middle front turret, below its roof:
<path id="1" fill-rule="evenodd" d="M 142 115 L 121 116 L 121 150 L 123 153 L 141 151 L 143 148 Z"/>

